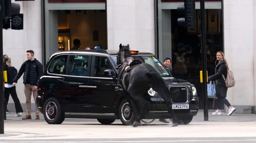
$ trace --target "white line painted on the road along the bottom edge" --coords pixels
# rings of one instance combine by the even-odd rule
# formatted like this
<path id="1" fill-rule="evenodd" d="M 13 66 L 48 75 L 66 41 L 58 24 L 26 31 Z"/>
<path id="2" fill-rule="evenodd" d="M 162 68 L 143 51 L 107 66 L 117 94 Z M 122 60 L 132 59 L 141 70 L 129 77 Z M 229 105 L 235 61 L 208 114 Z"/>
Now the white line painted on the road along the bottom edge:
<path id="1" fill-rule="evenodd" d="M 256 141 L 256 139 L 216 139 L 216 140 L 170 140 L 170 141 L 0 141 L 0 143 L 149 143 L 149 142 L 195 142 L 195 141 Z"/>

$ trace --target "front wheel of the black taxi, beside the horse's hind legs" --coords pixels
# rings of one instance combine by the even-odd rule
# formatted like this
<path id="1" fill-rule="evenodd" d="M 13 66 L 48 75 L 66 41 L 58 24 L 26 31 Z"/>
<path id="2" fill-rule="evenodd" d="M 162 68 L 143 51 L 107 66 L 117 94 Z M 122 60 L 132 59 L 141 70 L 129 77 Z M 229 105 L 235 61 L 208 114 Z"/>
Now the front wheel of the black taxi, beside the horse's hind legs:
<path id="1" fill-rule="evenodd" d="M 123 125 L 132 125 L 136 119 L 126 99 L 121 102 L 118 113 Z"/>

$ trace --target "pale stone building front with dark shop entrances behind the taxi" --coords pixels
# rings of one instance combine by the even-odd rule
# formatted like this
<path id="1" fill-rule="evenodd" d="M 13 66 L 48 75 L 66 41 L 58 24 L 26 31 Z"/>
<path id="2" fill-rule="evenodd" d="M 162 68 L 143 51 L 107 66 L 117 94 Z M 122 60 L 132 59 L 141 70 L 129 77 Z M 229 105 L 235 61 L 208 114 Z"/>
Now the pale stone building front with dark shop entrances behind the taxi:
<path id="1" fill-rule="evenodd" d="M 236 86 L 228 89 L 227 98 L 237 108 L 236 113 L 251 113 L 256 106 L 254 3 L 246 0 L 205 1 L 209 65 L 214 65 L 216 51 L 224 51 L 236 79 Z M 79 49 L 97 45 L 102 49 L 118 49 L 120 43 L 129 44 L 132 49 L 156 54 L 161 61 L 170 57 L 173 63 L 179 43 L 190 45 L 187 49 L 190 53 L 200 48 L 199 0 L 196 2 L 196 30 L 184 30 L 176 25 L 176 8 L 184 4 L 183 0 L 36 0 L 18 3 L 24 14 L 24 30 L 4 30 L 4 54 L 12 58 L 17 69 L 26 60 L 26 50 L 34 50 L 35 58 L 44 65 L 54 52 L 70 50 L 74 39 L 81 41 Z M 200 58 L 186 58 L 187 68 L 195 71 L 198 64 L 193 65 L 192 61 L 200 63 Z M 172 68 L 175 71 L 174 65 Z M 197 72 L 191 73 L 179 77 L 198 84 Z M 17 92 L 25 109 L 23 88 L 20 79 Z M 198 92 L 200 88 L 201 84 L 198 84 Z M 215 99 L 208 99 L 208 102 L 209 108 L 216 108 Z M 14 109 L 10 98 L 8 110 L 14 112 Z"/>

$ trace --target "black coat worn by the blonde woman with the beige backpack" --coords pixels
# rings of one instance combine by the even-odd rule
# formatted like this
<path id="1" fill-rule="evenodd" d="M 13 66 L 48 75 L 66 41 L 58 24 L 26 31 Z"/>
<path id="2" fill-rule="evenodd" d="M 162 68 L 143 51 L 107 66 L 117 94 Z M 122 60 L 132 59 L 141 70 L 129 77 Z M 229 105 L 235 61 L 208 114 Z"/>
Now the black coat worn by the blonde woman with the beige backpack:
<path id="1" fill-rule="evenodd" d="M 226 98 L 228 88 L 226 87 L 225 80 L 222 77 L 224 75 L 225 79 L 227 78 L 228 68 L 226 67 L 226 63 L 224 60 L 220 61 L 216 68 L 215 74 L 208 77 L 208 80 L 214 80 L 216 83 L 216 96 L 222 96 Z"/>

